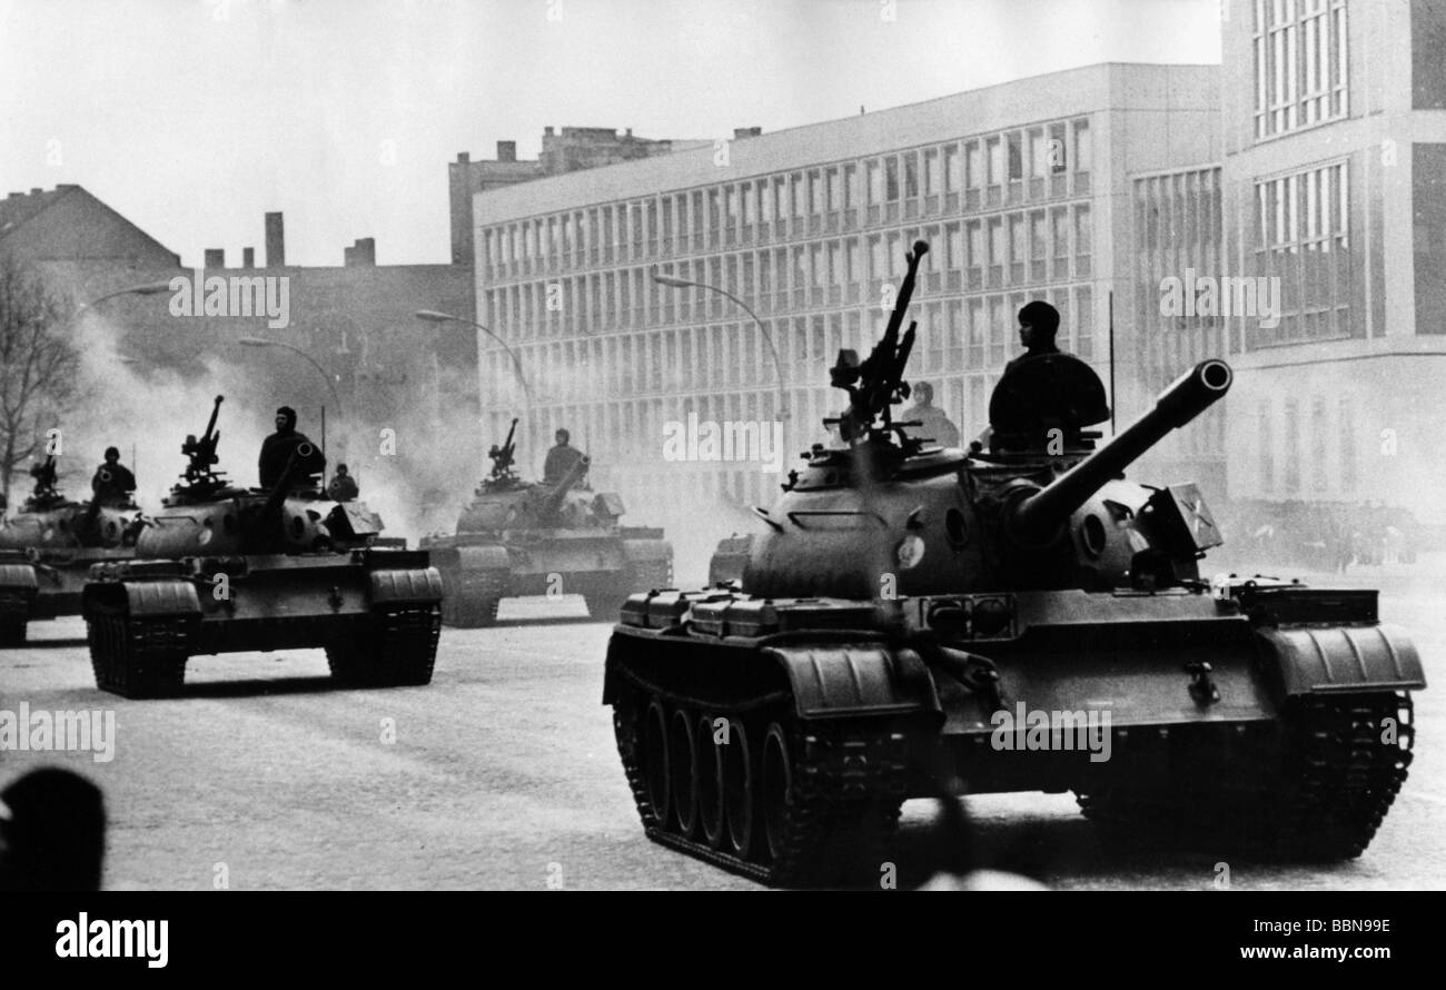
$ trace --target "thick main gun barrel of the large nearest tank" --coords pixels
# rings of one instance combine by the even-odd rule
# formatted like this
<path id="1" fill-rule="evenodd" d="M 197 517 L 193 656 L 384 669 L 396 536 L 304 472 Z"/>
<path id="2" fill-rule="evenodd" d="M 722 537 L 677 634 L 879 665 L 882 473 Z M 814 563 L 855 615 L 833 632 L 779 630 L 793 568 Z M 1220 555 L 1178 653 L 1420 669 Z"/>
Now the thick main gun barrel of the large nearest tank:
<path id="1" fill-rule="evenodd" d="M 1025 543 L 1048 541 L 1106 481 L 1220 399 L 1231 379 L 1231 366 L 1219 358 L 1200 361 L 1181 374 L 1160 393 L 1154 409 L 1047 487 L 1015 502 L 1008 517 L 1011 535 Z"/>

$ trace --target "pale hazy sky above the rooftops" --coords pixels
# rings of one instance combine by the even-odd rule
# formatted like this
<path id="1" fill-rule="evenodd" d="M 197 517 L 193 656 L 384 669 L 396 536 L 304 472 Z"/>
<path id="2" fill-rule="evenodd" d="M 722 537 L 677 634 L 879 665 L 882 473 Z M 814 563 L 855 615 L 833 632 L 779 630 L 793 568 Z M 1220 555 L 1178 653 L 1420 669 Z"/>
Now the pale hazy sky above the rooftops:
<path id="1" fill-rule="evenodd" d="M 1219 0 L 0 0 L 0 195 L 85 186 L 197 266 L 450 260 L 447 163 L 544 126 L 782 130 L 1096 62 L 1219 62 Z M 967 124 L 962 126 L 967 132 Z"/>

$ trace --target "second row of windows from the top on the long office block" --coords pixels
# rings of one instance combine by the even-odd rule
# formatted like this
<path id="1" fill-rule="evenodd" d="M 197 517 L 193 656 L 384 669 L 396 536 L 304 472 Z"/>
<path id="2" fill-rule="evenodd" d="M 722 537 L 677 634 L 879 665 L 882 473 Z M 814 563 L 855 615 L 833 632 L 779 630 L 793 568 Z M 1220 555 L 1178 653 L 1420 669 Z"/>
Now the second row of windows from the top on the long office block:
<path id="1" fill-rule="evenodd" d="M 915 240 L 933 247 L 918 296 L 1058 283 L 1092 275 L 1089 204 L 1018 211 L 988 221 L 941 224 L 794 247 L 736 251 L 484 289 L 482 321 L 509 338 L 597 334 L 740 315 L 772 315 L 885 299 Z M 720 290 L 729 289 L 739 302 Z"/>

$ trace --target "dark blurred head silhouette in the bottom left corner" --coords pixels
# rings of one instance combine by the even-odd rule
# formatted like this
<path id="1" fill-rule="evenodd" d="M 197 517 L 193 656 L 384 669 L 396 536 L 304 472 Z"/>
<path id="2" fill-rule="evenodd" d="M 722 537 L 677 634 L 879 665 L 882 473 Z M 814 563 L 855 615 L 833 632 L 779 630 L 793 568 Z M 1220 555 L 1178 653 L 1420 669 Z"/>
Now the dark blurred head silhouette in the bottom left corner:
<path id="1" fill-rule="evenodd" d="M 100 890 L 106 801 L 90 780 L 32 770 L 0 791 L 0 890 Z"/>

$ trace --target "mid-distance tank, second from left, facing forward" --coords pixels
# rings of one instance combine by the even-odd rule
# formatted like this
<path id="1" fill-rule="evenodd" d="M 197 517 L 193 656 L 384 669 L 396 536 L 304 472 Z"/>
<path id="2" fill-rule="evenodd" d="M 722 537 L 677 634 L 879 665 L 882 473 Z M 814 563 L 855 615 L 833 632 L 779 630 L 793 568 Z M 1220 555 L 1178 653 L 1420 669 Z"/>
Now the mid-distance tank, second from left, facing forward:
<path id="1" fill-rule="evenodd" d="M 134 558 L 91 568 L 82 593 L 95 686 L 127 698 L 175 694 L 197 655 L 321 647 L 333 678 L 359 686 L 431 682 L 441 577 L 424 551 L 375 545 L 364 503 L 334 503 L 299 445 L 269 488 L 221 473 L 217 396 L 205 435 Z"/>

